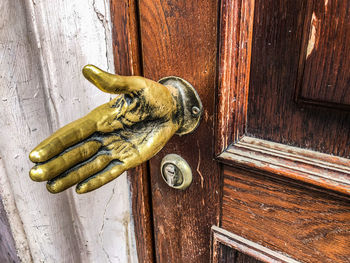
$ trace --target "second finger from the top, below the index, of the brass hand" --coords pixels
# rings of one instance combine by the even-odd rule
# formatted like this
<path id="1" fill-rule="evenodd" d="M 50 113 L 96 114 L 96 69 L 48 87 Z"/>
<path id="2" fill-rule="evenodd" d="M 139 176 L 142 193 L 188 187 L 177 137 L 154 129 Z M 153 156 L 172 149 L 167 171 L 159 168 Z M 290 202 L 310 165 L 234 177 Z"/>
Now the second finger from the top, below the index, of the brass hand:
<path id="1" fill-rule="evenodd" d="M 30 178 L 37 182 L 50 180 L 94 155 L 101 145 L 98 141 L 85 142 L 47 163 L 34 166 L 29 172 Z"/>

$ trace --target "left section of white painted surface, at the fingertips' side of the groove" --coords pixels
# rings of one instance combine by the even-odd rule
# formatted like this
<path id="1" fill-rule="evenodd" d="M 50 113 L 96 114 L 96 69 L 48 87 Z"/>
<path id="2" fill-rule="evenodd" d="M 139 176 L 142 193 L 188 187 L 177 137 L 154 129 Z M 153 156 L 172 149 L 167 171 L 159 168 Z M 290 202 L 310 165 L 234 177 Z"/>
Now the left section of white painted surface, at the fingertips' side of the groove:
<path id="1" fill-rule="evenodd" d="M 67 195 L 49 195 L 28 176 L 28 152 L 50 133 L 51 124 L 40 60 L 32 46 L 36 42 L 30 41 L 26 23 L 28 10 L 18 0 L 0 5 L 0 188 L 19 257 L 24 262 L 79 261 Z"/>

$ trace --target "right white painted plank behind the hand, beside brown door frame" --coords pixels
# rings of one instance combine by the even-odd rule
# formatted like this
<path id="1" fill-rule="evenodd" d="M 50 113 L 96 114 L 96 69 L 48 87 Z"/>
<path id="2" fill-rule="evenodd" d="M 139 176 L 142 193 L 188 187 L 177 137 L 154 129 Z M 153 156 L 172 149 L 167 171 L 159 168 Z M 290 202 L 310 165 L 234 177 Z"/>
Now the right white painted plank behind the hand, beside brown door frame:
<path id="1" fill-rule="evenodd" d="M 88 63 L 114 71 L 109 1 L 35 1 L 33 14 L 40 36 L 45 92 L 56 129 L 110 99 L 81 73 Z M 126 174 L 98 191 L 77 195 L 72 189 L 67 195 L 79 251 L 75 253 L 81 260 L 130 261 L 132 228 Z"/>

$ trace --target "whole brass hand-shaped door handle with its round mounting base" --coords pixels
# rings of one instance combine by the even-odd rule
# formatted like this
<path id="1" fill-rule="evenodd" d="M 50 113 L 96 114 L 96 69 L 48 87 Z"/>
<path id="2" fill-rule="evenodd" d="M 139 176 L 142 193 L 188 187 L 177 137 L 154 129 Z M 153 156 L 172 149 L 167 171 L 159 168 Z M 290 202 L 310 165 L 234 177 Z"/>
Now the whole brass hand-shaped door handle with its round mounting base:
<path id="1" fill-rule="evenodd" d="M 30 153 L 34 181 L 58 193 L 77 184 L 87 193 L 157 154 L 176 133 L 192 132 L 202 104 L 194 88 L 178 77 L 155 82 L 119 76 L 87 65 L 83 74 L 100 90 L 119 94 L 85 117 L 57 130 Z"/>

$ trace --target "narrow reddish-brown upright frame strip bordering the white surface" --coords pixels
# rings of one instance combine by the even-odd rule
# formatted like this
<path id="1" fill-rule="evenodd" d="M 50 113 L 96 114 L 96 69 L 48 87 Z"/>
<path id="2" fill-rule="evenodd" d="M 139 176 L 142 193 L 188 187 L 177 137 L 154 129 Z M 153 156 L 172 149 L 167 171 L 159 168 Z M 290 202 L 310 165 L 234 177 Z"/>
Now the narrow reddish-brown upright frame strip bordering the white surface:
<path id="1" fill-rule="evenodd" d="M 137 1 L 111 0 L 115 73 L 142 75 Z M 128 171 L 139 262 L 154 262 L 153 225 L 148 164 Z"/>

